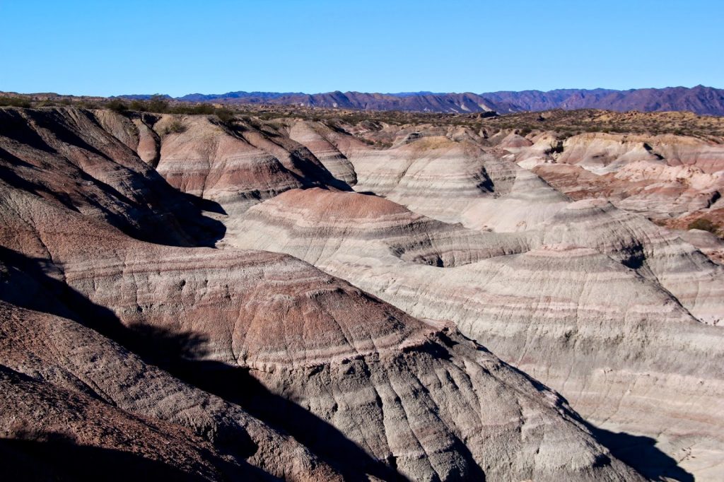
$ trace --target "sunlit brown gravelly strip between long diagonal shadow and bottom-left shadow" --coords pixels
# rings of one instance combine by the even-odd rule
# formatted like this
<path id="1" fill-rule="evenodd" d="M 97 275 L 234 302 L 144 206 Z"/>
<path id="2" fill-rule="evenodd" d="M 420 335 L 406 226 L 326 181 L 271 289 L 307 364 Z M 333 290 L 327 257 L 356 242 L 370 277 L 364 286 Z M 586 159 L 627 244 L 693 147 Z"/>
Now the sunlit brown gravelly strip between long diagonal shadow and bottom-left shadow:
<path id="1" fill-rule="evenodd" d="M 5 269 L 9 269 L 9 266 L 5 266 Z M 14 281 L 20 284 L 20 280 Z M 27 282 L 24 287 L 29 287 Z M 25 303 L 28 301 L 25 300 Z M 51 307 L 46 305 L 45 308 L 67 309 L 60 304 Z M 71 313 L 69 315 L 72 316 Z M 66 413 L 64 417 L 78 418 L 79 422 L 88 417 L 88 423 L 105 423 L 111 427 L 113 425 L 103 416 L 104 412 L 117 414 L 111 420 L 119 417 L 157 420 L 156 423 L 162 420 L 156 426 L 160 434 L 172 437 L 182 434 L 191 439 L 185 442 L 186 445 L 201 449 L 201 453 L 196 455 L 201 460 L 196 462 L 198 465 L 209 464 L 216 470 L 233 468 L 239 473 L 236 477 L 264 478 L 263 475 L 268 473 L 289 480 L 311 480 L 335 476 L 329 465 L 290 436 L 253 418 L 238 405 L 195 389 L 148 365 L 93 329 L 67 318 L 17 308 L 4 302 L 0 302 L 0 320 L 0 332 L 3 334 L 0 340 L 1 365 L 25 373 L 42 382 L 44 387 L 52 387 L 40 388 L 41 391 L 66 390 L 77 394 L 66 397 L 91 399 L 98 406 L 98 415 L 101 415 Z M 161 335 L 161 332 L 158 334 Z M 156 350 L 163 347 L 164 342 L 168 341 L 148 340 Z M 25 415 L 7 407 L 3 413 L 8 418 Z M 47 419 L 25 420 L 20 424 L 16 421 L 16 426 L 9 430 L 30 435 L 38 432 L 46 434 L 49 428 L 38 424 L 52 423 L 51 415 L 47 416 Z M 59 425 L 56 428 L 60 434 L 67 434 L 66 427 Z M 119 428 L 111 430 L 127 434 L 127 431 Z M 55 433 L 50 432 L 51 435 Z M 18 435 L 7 433 L 6 438 Z M 100 438 L 100 445 L 98 439 L 74 439 L 73 443 L 104 447 L 103 440 Z M 117 448 L 132 452 L 137 447 L 126 441 Z M 216 463 L 209 460 L 209 454 L 204 452 L 214 453 Z M 178 462 L 174 462 L 176 464 Z"/>

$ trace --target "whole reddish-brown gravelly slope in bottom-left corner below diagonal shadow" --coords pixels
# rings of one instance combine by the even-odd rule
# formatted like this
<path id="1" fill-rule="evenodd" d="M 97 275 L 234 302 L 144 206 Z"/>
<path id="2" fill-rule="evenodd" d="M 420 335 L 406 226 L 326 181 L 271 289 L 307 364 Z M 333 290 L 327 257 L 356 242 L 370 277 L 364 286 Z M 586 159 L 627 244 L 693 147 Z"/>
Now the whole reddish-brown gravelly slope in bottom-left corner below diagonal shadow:
<path id="1" fill-rule="evenodd" d="M 34 412 L 19 410 L 12 396 L 4 399 L 3 437 L 19 439 L 18 452 L 24 452 L 25 442 L 37 445 L 39 451 L 54 436 L 62 437 L 59 447 L 48 449 L 67 450 L 69 457 L 83 456 L 81 447 L 88 447 L 88 457 L 102 457 L 99 449 L 112 448 L 128 454 L 127 460 L 117 461 L 109 453 L 105 462 L 92 462 L 86 470 L 89 475 L 98 471 L 93 475 L 99 476 L 102 465 L 109 464 L 120 471 L 111 475 L 114 480 L 137 475 L 146 465 L 159 477 L 184 480 L 266 479 L 268 475 L 291 480 L 340 478 L 290 436 L 238 405 L 148 365 L 93 329 L 4 302 L 0 302 L 0 320 L 2 370 L 15 386 L 14 392 L 4 393 L 30 397 L 34 407 L 43 407 Z M 163 342 L 154 343 L 159 347 Z M 81 446 L 77 454 L 74 445 Z M 33 462 L 47 462 L 45 457 L 37 458 Z M 130 467 L 123 467 L 120 462 L 124 461 Z M 56 470 L 72 473 L 73 469 L 57 460 L 49 473 Z M 151 475 L 147 475 L 149 480 Z"/>

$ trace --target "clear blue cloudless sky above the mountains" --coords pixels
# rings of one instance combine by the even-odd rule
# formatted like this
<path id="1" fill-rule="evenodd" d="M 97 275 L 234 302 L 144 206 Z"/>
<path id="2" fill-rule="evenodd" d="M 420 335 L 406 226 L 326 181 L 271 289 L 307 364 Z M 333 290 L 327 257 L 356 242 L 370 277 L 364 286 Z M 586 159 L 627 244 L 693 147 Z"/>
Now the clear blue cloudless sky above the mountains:
<path id="1" fill-rule="evenodd" d="M 724 87 L 724 0 L 0 0 L 0 90 Z"/>

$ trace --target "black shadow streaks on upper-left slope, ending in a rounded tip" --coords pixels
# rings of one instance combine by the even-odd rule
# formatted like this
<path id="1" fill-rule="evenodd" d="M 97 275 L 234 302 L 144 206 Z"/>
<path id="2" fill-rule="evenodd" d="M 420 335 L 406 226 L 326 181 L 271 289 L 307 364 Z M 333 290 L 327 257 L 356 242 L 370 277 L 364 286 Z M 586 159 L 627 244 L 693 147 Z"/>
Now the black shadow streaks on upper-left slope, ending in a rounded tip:
<path id="1" fill-rule="evenodd" d="M 50 145 L 49 141 L 41 138 L 28 120 L 22 117 L 20 111 L 14 109 L 0 111 L 2 137 L 17 141 L 26 148 L 37 149 L 51 155 L 46 160 L 46 165 L 33 165 L 18 158 L 6 148 L 0 148 L 0 161 L 7 163 L 7 166 L 3 166 L 0 162 L 1 178 L 9 185 L 37 195 L 44 193 L 72 211 L 78 211 L 83 204 L 93 206 L 94 209 L 101 211 L 109 224 L 129 236 L 144 241 L 187 247 L 214 246 L 216 241 L 224 237 L 226 233 L 224 224 L 205 215 L 205 212 L 225 214 L 219 203 L 180 192 L 169 185 L 155 169 L 138 171 L 133 169 L 133 166 L 119 164 L 109 153 L 104 153 L 88 144 L 80 135 L 73 132 L 62 115 L 55 110 L 28 109 L 24 113 L 38 126 L 46 127 L 59 143 Z M 98 127 L 102 129 L 101 126 Z M 118 141 L 117 147 L 121 148 L 121 145 L 122 143 Z M 126 148 L 125 145 L 123 148 Z M 103 177 L 93 176 L 75 166 L 68 160 L 69 151 L 85 151 L 94 158 L 98 166 L 118 172 L 119 177 L 126 177 L 125 183 L 132 187 L 134 192 L 132 198 L 108 182 L 104 182 Z M 138 163 L 145 166 L 140 158 Z M 73 195 L 65 193 L 66 187 L 52 184 L 46 186 L 42 182 L 33 182 L 33 176 L 36 175 L 33 172 L 38 169 L 48 172 L 58 171 L 54 175 L 59 175 L 59 179 L 67 176 L 75 182 L 91 185 L 102 193 L 106 203 L 93 200 L 93 195 L 88 199 L 79 200 L 77 196 L 74 198 Z M 98 170 L 103 169 L 99 167 Z M 28 175 L 29 179 L 25 179 L 24 175 Z M 54 190 L 54 187 L 57 187 L 57 190 Z M 67 186 L 67 189 L 72 193 L 72 185 Z M 93 194 L 92 190 L 89 192 Z M 108 207 L 108 204 L 112 203 L 119 211 Z"/>

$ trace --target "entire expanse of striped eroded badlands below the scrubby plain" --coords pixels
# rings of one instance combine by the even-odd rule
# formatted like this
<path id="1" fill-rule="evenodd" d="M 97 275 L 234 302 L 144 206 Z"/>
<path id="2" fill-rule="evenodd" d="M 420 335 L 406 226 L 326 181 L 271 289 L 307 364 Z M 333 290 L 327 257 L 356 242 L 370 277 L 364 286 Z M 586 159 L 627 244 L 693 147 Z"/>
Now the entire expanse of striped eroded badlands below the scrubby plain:
<path id="1" fill-rule="evenodd" d="M 0 109 L 5 473 L 724 478 L 723 119 L 222 118 Z"/>

